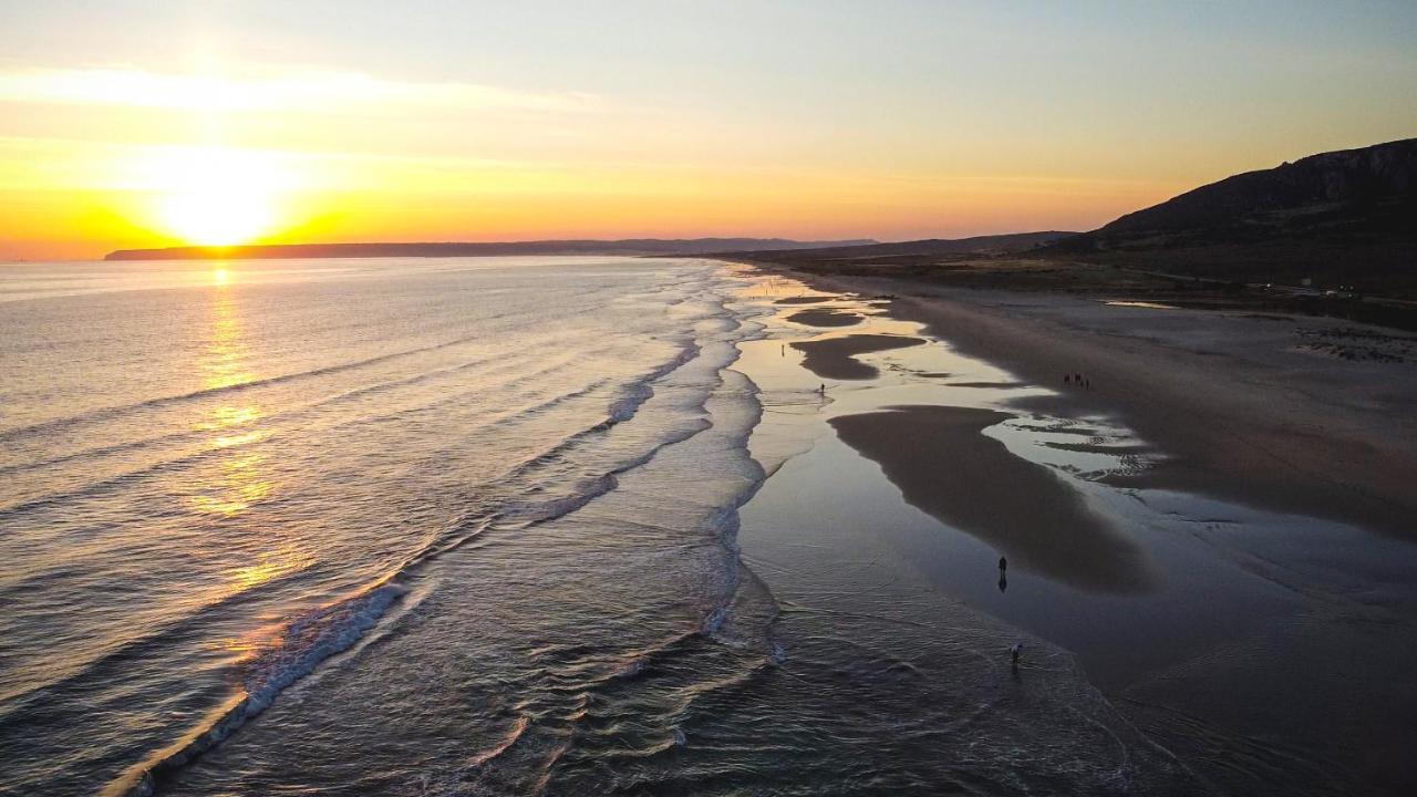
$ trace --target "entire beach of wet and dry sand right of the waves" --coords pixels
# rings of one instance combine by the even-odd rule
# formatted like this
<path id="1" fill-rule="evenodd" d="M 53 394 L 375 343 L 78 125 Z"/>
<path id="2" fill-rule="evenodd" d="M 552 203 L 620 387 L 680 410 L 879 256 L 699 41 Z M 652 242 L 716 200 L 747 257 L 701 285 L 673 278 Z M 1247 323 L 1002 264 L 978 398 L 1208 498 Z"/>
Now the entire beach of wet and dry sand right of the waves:
<path id="1" fill-rule="evenodd" d="M 1403 664 L 1417 655 L 1417 367 L 1394 362 L 1408 336 L 798 277 L 826 294 L 774 299 L 788 343 L 747 345 L 738 366 L 769 413 L 755 450 L 799 452 L 741 536 L 779 598 L 805 606 L 816 593 L 796 597 L 795 580 L 833 567 L 874 577 L 857 600 L 948 596 L 1049 661 L 1076 657 L 1221 793 L 1417 784 Z M 801 303 L 863 323 L 803 332 Z"/>

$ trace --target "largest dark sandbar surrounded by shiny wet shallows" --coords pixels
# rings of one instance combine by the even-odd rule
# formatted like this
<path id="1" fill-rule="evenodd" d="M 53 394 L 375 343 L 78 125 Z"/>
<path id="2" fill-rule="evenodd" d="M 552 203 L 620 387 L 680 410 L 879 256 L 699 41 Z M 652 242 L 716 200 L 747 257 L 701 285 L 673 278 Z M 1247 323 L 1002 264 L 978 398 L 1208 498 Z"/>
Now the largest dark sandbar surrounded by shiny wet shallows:
<path id="1" fill-rule="evenodd" d="M 1110 593 L 1145 591 L 1145 554 L 1050 468 L 982 431 L 1009 420 L 968 407 L 900 407 L 830 420 L 840 438 L 880 464 L 913 506 L 988 542 L 1037 573 Z"/>

